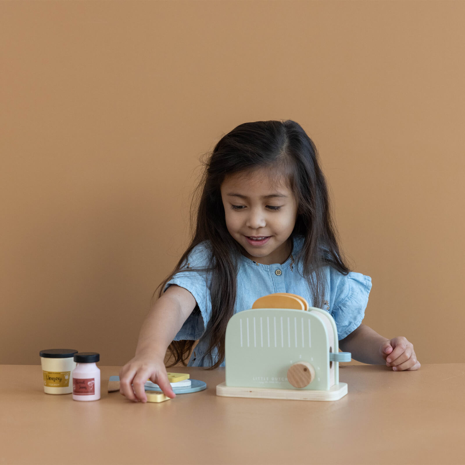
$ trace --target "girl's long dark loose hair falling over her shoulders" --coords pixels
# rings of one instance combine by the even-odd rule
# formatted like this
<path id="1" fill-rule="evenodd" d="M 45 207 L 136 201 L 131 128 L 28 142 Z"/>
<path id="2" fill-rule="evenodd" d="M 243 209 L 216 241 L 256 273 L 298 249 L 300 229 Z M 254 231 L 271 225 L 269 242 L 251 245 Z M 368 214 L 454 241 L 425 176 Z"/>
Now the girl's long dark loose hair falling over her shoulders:
<path id="1" fill-rule="evenodd" d="M 298 123 L 292 120 L 271 120 L 240 124 L 223 135 L 213 151 L 206 155 L 206 161 L 200 160 L 204 170 L 191 203 L 190 228 L 193 239 L 173 272 L 159 285 L 158 298 L 161 297 L 166 283 L 178 272 L 212 273 L 212 313 L 210 321 L 205 322 L 206 330 L 202 339 L 210 338 L 206 353 L 211 360 L 212 351 L 215 348 L 218 351 L 216 363 L 206 368 L 213 370 L 225 359 L 226 325 L 234 314 L 236 302 L 237 256 L 239 253 L 246 254 L 245 249 L 233 239 L 226 228 L 220 192 L 226 176 L 266 168 L 270 179 L 284 178 L 298 205 L 291 238 L 296 235 L 304 236 L 302 249 L 294 257 L 294 261 L 296 265 L 299 261 L 303 264 L 302 278 L 307 280 L 311 290 L 312 306 L 324 306 L 324 266 L 333 266 L 344 275 L 351 270 L 339 252 L 338 233 L 332 221 L 328 188 L 319 167 L 316 146 Z M 203 241 L 208 241 L 211 249 L 208 266 L 181 270 L 192 249 Z M 153 297 L 156 292 L 155 290 Z M 179 362 L 186 366 L 194 344 L 193 340 L 173 341 L 168 350 L 174 361 L 168 366 Z"/>

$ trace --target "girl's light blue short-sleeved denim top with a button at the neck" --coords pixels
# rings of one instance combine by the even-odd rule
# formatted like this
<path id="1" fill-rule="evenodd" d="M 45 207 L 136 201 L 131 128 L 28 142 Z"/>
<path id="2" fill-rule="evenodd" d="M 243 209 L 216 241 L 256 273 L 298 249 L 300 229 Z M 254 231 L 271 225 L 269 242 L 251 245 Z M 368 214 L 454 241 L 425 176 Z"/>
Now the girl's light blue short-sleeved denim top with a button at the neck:
<path id="1" fill-rule="evenodd" d="M 267 294 L 275 292 L 290 292 L 297 294 L 312 305 L 312 295 L 305 279 L 297 271 L 294 256 L 303 245 L 303 236 L 294 238 L 294 246 L 289 258 L 282 264 L 273 263 L 263 265 L 241 255 L 237 274 L 237 296 L 234 312 L 242 312 L 252 308 L 253 302 Z M 192 267 L 206 267 L 209 258 L 206 243 L 202 242 L 193 248 L 182 269 Z M 278 271 L 279 270 L 279 271 Z M 302 264 L 299 263 L 302 273 Z M 277 273 L 278 272 L 278 273 Z M 302 273 L 303 274 L 303 273 Z M 368 303 L 368 295 L 372 288 L 370 276 L 357 272 L 343 275 L 332 266 L 324 268 L 326 278 L 325 305 L 323 310 L 328 311 L 334 318 L 338 330 L 338 339 L 344 339 L 360 326 Z M 176 334 L 174 340 L 198 340 L 205 332 L 212 311 L 210 299 L 211 278 L 207 273 L 182 272 L 173 276 L 166 283 L 163 292 L 172 285 L 177 284 L 192 293 L 200 312 L 193 311 Z M 208 341 L 200 341 L 195 347 L 187 366 L 212 366 L 213 363 L 206 357 Z M 216 353 L 213 359 L 216 360 Z M 220 366 L 225 366 L 226 360 Z"/>

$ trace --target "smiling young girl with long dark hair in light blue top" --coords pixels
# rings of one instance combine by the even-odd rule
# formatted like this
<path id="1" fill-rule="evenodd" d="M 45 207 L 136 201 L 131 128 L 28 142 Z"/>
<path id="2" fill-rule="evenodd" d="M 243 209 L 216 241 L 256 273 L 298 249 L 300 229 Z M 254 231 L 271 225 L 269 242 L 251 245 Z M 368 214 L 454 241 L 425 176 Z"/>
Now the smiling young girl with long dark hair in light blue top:
<path id="1" fill-rule="evenodd" d="M 188 366 L 225 366 L 229 319 L 274 292 L 297 294 L 329 312 L 340 349 L 353 359 L 395 371 L 420 367 L 405 337 L 387 339 L 361 324 L 371 278 L 352 272 L 341 257 L 318 160 L 292 120 L 244 123 L 219 140 L 198 186 L 194 238 L 159 285 L 135 357 L 120 370 L 121 394 L 146 402 L 150 379 L 174 398 L 167 348 L 174 357 L 168 366 L 186 366 L 189 355 Z"/>

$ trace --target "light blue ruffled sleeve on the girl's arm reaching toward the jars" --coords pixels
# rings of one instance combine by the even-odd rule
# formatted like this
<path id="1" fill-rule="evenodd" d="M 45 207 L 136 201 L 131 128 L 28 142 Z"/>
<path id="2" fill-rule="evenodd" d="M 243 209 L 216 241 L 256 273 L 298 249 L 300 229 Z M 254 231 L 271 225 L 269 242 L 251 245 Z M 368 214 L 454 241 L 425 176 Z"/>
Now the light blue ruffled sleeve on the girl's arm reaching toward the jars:
<path id="1" fill-rule="evenodd" d="M 187 317 L 173 340 L 197 340 L 200 339 L 205 332 L 206 325 L 212 314 L 212 303 L 210 299 L 210 282 L 206 272 L 189 271 L 190 268 L 206 268 L 210 250 L 206 246 L 206 242 L 202 242 L 195 246 L 189 253 L 187 260 L 183 264 L 183 272 L 176 273 L 170 279 L 163 289 L 163 292 L 172 284 L 177 284 L 184 289 L 187 289 L 197 302 L 192 313 Z"/>

